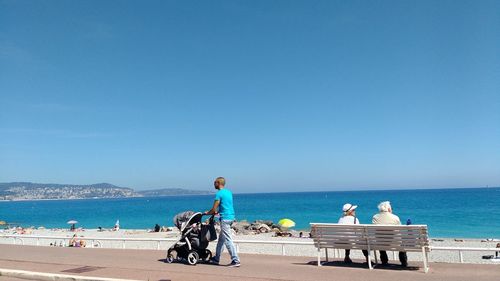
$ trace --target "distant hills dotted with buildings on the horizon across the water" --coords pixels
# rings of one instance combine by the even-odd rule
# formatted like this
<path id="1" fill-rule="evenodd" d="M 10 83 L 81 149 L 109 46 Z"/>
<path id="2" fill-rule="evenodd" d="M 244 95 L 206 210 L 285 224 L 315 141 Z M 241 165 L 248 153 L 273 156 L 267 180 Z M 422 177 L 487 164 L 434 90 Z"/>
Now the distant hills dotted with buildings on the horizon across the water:
<path id="1" fill-rule="evenodd" d="M 93 199 L 212 194 L 210 191 L 164 188 L 135 191 L 110 183 L 90 185 L 9 182 L 0 183 L 0 200 Z"/>

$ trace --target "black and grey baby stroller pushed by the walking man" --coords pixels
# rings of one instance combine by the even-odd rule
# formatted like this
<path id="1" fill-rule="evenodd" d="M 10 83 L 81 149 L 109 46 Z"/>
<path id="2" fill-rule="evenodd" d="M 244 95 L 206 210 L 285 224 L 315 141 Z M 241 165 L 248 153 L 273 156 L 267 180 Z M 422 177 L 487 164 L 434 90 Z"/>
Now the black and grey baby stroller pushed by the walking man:
<path id="1" fill-rule="evenodd" d="M 181 232 L 181 238 L 167 251 L 167 263 L 174 261 L 187 261 L 196 265 L 198 261 L 208 261 L 212 252 L 207 249 L 210 241 L 217 239 L 215 221 L 212 215 L 208 223 L 202 223 L 202 213 L 192 211 L 177 214 L 174 224 Z"/>

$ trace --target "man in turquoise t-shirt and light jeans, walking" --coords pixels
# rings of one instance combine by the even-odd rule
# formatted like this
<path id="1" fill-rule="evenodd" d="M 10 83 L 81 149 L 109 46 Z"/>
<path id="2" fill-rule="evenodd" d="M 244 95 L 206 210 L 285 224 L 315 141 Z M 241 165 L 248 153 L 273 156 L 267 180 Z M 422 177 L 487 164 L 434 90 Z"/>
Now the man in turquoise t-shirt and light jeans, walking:
<path id="1" fill-rule="evenodd" d="M 233 194 L 229 189 L 225 188 L 226 180 L 223 177 L 218 177 L 214 181 L 214 187 L 217 189 L 215 194 L 215 201 L 212 209 L 206 211 L 206 215 L 219 214 L 220 215 L 220 234 L 219 241 L 217 242 L 217 248 L 215 251 L 215 257 L 213 257 L 210 262 L 212 264 L 219 264 L 220 255 L 224 250 L 224 245 L 226 246 L 229 254 L 231 255 L 230 267 L 239 267 L 240 259 L 238 253 L 233 244 L 233 238 L 231 235 L 231 225 L 234 222 L 235 214 L 233 207 Z"/>

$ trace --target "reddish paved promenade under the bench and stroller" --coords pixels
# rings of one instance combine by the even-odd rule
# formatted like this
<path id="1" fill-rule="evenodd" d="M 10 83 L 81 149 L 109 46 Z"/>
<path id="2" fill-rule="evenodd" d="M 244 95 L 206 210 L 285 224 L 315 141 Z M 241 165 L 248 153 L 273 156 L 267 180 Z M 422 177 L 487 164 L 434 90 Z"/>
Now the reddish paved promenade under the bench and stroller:
<path id="1" fill-rule="evenodd" d="M 137 280 L 500 280 L 500 265 L 433 264 L 424 274 L 418 263 L 368 270 L 361 263 L 332 262 L 318 268 L 314 258 L 242 255 L 241 268 L 199 264 L 165 264 L 163 251 L 51 248 L 0 245 L 0 268 Z M 227 258 L 227 254 L 224 256 Z M 229 262 L 223 260 L 223 262 Z M 10 280 L 0 277 L 0 281 Z M 17 280 L 17 279 L 16 279 Z"/>

